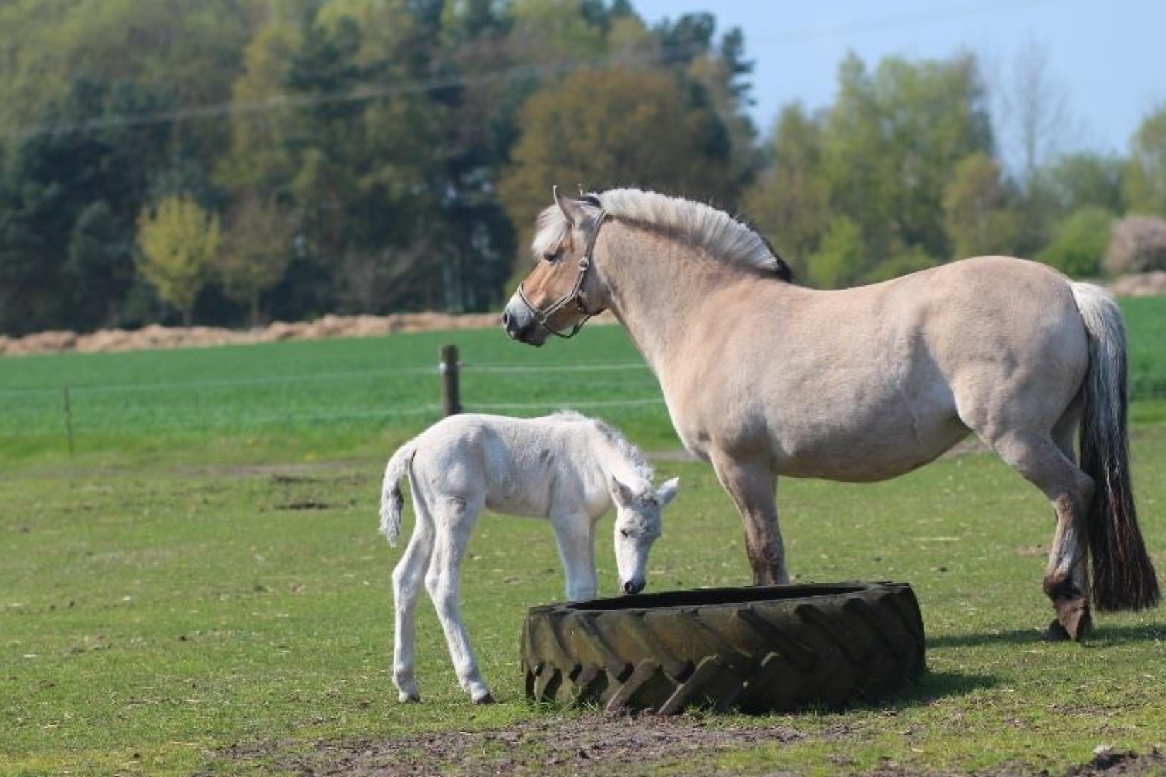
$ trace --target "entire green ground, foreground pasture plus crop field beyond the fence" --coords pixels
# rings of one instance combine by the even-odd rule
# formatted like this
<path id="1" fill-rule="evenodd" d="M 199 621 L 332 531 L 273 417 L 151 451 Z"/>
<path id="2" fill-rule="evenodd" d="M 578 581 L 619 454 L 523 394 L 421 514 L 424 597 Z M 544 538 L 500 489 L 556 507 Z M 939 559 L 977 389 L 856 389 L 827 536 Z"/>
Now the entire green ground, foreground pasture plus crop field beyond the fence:
<path id="1" fill-rule="evenodd" d="M 1166 309 L 1133 303 L 1135 386 L 1153 394 L 1166 354 L 1146 333 L 1166 334 Z M 499 704 L 469 705 L 424 608 L 424 702 L 398 705 L 401 549 L 375 531 L 377 495 L 393 447 L 437 417 L 448 341 L 469 409 L 573 405 L 646 450 L 676 447 L 617 327 L 539 351 L 491 331 L 0 360 L 0 774 L 1058 775 L 1098 746 L 1166 746 L 1166 617 L 1103 616 L 1083 645 L 1040 642 L 1048 507 L 976 454 L 873 486 L 782 481 L 799 580 L 907 581 L 920 599 L 929 672 L 886 704 L 679 721 L 531 706 L 521 620 L 561 598 L 562 573 L 546 525 L 487 516 L 463 592 Z M 1133 408 L 1160 570 L 1164 404 Z M 682 489 L 648 589 L 746 582 L 739 522 L 711 471 L 670 458 L 656 469 Z M 614 594 L 607 542 L 597 557 Z"/>

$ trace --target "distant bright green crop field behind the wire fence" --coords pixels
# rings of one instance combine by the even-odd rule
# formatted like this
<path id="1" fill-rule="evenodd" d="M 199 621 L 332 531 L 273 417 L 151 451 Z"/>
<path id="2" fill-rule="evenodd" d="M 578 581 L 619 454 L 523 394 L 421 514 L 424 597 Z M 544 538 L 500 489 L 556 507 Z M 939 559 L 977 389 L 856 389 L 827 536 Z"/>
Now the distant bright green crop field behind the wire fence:
<path id="1" fill-rule="evenodd" d="M 1122 304 L 1131 394 L 1166 397 L 1166 299 Z M 623 327 L 592 325 L 542 348 L 490 329 L 0 359 L 0 459 L 68 454 L 70 428 L 77 453 L 211 439 L 309 440 L 336 451 L 410 435 L 441 416 L 445 344 L 461 353 L 466 410 L 533 416 L 569 407 L 641 445 L 677 445 L 655 377 Z"/>

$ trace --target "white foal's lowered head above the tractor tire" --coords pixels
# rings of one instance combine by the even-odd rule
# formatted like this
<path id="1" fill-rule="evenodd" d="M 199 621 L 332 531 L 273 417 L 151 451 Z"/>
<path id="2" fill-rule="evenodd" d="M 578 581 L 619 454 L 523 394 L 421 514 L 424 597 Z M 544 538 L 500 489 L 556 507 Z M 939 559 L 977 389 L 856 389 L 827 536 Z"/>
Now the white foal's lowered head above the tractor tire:
<path id="1" fill-rule="evenodd" d="M 653 490 L 647 480 L 639 488 L 633 488 L 612 476 L 610 487 L 616 503 L 619 589 L 626 594 L 639 593 L 646 582 L 648 550 L 660 536 L 660 513 L 680 489 L 680 478 L 673 478 Z"/>

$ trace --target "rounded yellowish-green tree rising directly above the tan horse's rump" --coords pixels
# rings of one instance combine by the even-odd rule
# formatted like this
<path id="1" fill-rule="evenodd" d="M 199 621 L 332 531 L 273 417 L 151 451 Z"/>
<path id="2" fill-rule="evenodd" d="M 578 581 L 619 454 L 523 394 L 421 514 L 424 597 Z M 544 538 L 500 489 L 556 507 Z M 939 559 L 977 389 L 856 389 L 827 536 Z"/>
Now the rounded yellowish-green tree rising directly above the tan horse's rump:
<path id="1" fill-rule="evenodd" d="M 954 257 L 1014 253 L 1019 224 L 997 162 L 984 153 L 962 160 L 943 191 Z"/>

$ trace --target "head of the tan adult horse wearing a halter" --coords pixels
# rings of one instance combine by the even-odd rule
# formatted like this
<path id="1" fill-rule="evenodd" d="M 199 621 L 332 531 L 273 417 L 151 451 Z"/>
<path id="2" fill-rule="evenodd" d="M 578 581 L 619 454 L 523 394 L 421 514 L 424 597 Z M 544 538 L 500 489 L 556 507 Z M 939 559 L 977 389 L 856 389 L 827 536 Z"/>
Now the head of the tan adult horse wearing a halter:
<path id="1" fill-rule="evenodd" d="M 506 334 L 528 345 L 574 337 L 605 306 L 591 257 L 605 214 L 599 199 L 571 199 L 554 189 L 555 205 L 539 216 L 532 248 L 538 263 L 503 311 Z"/>

